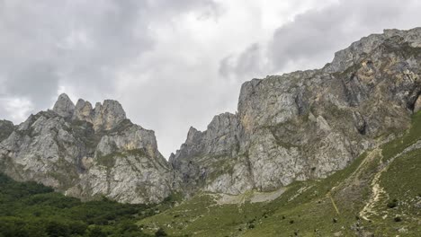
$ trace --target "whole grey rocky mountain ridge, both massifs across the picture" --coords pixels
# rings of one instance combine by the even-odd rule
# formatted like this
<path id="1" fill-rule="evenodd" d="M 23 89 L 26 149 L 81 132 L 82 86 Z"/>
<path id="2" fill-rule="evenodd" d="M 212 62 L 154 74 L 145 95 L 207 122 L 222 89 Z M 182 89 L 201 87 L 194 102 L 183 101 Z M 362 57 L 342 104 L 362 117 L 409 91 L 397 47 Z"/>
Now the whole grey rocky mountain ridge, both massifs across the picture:
<path id="1" fill-rule="evenodd" d="M 237 113 L 191 127 L 169 161 L 118 101 L 66 94 L 19 126 L 0 121 L 0 171 L 70 196 L 157 203 L 198 190 L 238 195 L 325 178 L 406 130 L 421 108 L 421 28 L 354 42 L 318 70 L 253 79 Z M 4 128 L 3 128 L 4 127 Z"/>

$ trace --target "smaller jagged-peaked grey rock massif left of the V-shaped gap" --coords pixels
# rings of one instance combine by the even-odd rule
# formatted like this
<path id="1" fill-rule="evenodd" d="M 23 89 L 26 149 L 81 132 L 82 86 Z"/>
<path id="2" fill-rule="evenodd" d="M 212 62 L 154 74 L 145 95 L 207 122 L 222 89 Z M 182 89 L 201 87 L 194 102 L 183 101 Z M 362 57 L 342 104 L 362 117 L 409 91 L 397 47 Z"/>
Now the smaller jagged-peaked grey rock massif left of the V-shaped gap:
<path id="1" fill-rule="evenodd" d="M 153 131 L 132 124 L 118 101 L 95 108 L 66 94 L 53 110 L 12 127 L 0 144 L 0 171 L 36 180 L 67 195 L 105 196 L 128 203 L 157 203 L 175 189 L 173 172 L 157 150 Z"/>

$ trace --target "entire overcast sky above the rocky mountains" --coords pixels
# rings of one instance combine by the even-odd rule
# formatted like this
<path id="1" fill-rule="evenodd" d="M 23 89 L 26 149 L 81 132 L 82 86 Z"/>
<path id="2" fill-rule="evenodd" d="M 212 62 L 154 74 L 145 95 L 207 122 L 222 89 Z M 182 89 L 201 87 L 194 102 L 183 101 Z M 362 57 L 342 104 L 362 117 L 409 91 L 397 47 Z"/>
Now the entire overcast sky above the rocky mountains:
<path id="1" fill-rule="evenodd" d="M 0 118 L 66 92 L 120 101 L 164 156 L 237 110 L 242 83 L 324 66 L 383 29 L 421 26 L 407 0 L 0 0 Z"/>

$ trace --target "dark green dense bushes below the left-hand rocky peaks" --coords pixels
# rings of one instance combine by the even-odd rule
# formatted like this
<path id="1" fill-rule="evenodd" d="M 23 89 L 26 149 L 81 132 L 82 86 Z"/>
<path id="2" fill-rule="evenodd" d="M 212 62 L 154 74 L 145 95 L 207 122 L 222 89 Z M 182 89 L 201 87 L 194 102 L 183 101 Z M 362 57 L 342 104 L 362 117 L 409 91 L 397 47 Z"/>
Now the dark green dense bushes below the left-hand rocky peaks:
<path id="1" fill-rule="evenodd" d="M 0 237 L 148 236 L 136 223 L 154 214 L 153 207 L 107 198 L 81 202 L 41 184 L 17 182 L 0 173 Z"/>

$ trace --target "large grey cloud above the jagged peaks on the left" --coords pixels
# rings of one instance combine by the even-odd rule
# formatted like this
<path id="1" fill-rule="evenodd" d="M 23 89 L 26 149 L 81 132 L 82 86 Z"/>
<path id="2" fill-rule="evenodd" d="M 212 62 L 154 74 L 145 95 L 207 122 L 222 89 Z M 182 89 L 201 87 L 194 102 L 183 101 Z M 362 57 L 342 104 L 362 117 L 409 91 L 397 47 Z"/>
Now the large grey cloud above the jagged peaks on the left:
<path id="1" fill-rule="evenodd" d="M 151 22 L 211 4 L 193 1 L 0 0 L 0 75 L 4 97 L 48 108 L 59 85 L 95 100 L 112 94 L 116 75 L 154 48 Z M 3 118 L 10 115 L 0 114 Z"/>

